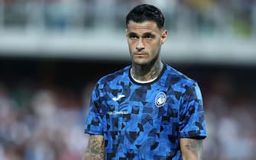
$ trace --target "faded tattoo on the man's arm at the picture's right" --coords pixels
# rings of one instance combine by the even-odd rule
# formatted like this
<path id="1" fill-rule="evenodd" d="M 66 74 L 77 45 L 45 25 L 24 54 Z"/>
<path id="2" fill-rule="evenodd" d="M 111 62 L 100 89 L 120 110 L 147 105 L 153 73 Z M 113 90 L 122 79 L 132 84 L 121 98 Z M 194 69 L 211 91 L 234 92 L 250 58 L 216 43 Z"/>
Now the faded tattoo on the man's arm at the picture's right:
<path id="1" fill-rule="evenodd" d="M 198 159 L 202 159 L 203 140 L 202 139 L 187 139 L 186 149 L 190 150 Z"/>

